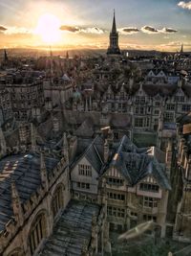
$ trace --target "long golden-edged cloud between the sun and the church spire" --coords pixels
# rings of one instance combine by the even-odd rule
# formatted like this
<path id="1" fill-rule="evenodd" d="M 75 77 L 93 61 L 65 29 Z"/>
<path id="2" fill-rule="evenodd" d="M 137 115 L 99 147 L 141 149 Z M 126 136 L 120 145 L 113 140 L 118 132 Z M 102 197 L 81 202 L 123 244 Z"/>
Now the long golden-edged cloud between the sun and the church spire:
<path id="1" fill-rule="evenodd" d="M 60 30 L 65 32 L 71 32 L 71 33 L 87 33 L 87 34 L 103 34 L 104 33 L 102 29 L 99 29 L 97 27 L 80 28 L 75 26 L 62 25 L 60 27 Z"/>

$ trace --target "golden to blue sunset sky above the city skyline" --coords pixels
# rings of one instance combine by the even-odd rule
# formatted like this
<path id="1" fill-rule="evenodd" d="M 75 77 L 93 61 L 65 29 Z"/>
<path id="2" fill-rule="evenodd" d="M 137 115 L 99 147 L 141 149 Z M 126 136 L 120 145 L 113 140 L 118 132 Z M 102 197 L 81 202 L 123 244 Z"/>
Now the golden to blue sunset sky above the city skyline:
<path id="1" fill-rule="evenodd" d="M 121 49 L 191 51 L 188 0 L 0 0 L 0 48 L 106 49 L 114 9 Z"/>

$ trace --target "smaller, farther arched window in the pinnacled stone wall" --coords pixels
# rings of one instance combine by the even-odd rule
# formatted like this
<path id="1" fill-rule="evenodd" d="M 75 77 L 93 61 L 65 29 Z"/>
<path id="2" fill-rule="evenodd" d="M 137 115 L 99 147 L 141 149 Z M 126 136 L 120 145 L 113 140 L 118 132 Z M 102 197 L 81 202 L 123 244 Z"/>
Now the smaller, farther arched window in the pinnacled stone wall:
<path id="1" fill-rule="evenodd" d="M 55 192 L 53 193 L 52 199 L 52 210 L 53 210 L 53 219 L 58 213 L 58 211 L 64 206 L 63 202 L 63 187 L 60 185 L 57 187 Z"/>

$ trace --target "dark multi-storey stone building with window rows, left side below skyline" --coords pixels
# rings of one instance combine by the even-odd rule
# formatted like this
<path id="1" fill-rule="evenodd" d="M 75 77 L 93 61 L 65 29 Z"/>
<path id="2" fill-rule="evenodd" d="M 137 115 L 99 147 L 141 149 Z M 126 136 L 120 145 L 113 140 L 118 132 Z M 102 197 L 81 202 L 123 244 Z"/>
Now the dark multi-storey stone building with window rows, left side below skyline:
<path id="1" fill-rule="evenodd" d="M 0 86 L 10 93 L 11 109 L 17 121 L 41 120 L 44 113 L 44 91 L 40 72 L 7 73 L 1 78 Z"/>

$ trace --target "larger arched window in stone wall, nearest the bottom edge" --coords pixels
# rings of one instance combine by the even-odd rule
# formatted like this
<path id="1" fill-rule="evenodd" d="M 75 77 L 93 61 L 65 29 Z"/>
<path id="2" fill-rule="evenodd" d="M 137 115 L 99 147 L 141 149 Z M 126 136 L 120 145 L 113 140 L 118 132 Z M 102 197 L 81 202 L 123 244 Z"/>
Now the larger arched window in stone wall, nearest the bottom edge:
<path id="1" fill-rule="evenodd" d="M 42 239 L 46 237 L 46 234 L 46 217 L 44 213 L 41 213 L 32 223 L 32 230 L 29 237 L 30 249 L 32 254 L 37 246 L 40 244 Z"/>

